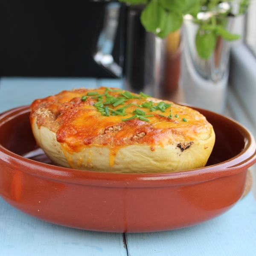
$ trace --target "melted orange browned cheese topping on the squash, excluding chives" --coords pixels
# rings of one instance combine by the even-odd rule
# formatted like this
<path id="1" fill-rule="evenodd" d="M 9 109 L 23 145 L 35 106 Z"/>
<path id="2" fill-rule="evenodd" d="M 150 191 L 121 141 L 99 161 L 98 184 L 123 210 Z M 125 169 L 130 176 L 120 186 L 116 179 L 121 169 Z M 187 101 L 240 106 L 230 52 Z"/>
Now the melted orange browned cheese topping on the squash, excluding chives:
<path id="1" fill-rule="evenodd" d="M 136 104 L 126 108 L 125 116 L 102 116 L 94 106 L 98 102 L 97 98 L 93 98 L 95 95 L 88 96 L 85 101 L 82 100 L 82 96 L 87 96 L 90 92 L 102 95 L 105 94 L 105 87 L 63 91 L 55 96 L 35 100 L 31 106 L 31 119 L 36 117 L 39 127 L 47 126 L 54 131 L 57 141 L 67 151 L 79 152 L 84 146 L 92 145 L 110 148 L 110 165 L 113 165 L 114 156 L 122 146 L 150 145 L 154 151 L 155 145 L 165 146 L 170 143 L 192 141 L 198 139 L 198 134 L 201 134 L 202 139 L 209 137 L 211 125 L 204 116 L 191 108 L 163 101 L 172 106 L 166 108 L 165 112 L 161 110 L 151 112 L 149 108 L 136 105 L 152 100 L 155 106 L 161 100 L 140 97 L 140 99 L 127 99 L 124 105 L 115 107 L 112 104 L 104 105 L 116 111 L 123 106 Z M 125 91 L 108 91 L 108 94 L 117 98 L 122 96 L 120 95 L 122 92 Z M 140 96 L 134 93 L 132 95 Z M 106 102 L 106 96 L 102 96 L 102 99 L 103 103 Z M 122 121 L 134 116 L 133 111 L 136 108 L 145 111 L 145 115 L 154 116 L 146 117 L 149 122 L 138 118 Z M 45 117 L 38 114 L 45 110 Z M 111 111 L 109 113 L 111 114 Z M 172 113 L 171 119 L 168 118 L 170 113 Z M 176 114 L 178 117 L 175 117 Z"/>

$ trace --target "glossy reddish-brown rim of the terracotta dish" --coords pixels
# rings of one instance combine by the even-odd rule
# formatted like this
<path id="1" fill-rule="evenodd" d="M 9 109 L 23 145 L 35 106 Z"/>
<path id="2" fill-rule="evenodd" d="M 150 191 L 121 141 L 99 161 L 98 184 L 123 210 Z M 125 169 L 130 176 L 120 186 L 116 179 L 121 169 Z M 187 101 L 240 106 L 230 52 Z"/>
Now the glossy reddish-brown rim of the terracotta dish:
<path id="1" fill-rule="evenodd" d="M 184 104 L 183 104 L 184 105 Z M 76 183 L 90 186 L 109 187 L 159 187 L 180 186 L 201 183 L 218 177 L 224 177 L 242 172 L 256 162 L 256 143 L 251 132 L 232 118 L 201 108 L 191 107 L 197 111 L 207 111 L 216 117 L 227 119 L 236 125 L 243 135 L 245 145 L 243 150 L 235 157 L 221 163 L 198 169 L 181 172 L 162 173 L 108 173 L 84 171 L 61 166 L 53 166 L 47 163 L 37 162 L 9 151 L 0 144 L 0 160 L 13 168 L 50 180 L 58 180 L 65 183 Z M 13 108 L 0 113 L 0 126 L 30 111 L 30 105 Z"/>

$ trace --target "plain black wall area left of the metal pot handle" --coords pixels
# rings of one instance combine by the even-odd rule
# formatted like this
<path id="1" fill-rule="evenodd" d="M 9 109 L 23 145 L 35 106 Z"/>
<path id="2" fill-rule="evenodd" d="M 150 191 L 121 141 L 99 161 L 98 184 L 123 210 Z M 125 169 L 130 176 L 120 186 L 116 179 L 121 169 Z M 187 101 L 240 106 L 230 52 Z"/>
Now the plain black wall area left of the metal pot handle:
<path id="1" fill-rule="evenodd" d="M 92 58 L 104 3 L 0 1 L 0 76 L 109 77 Z"/>

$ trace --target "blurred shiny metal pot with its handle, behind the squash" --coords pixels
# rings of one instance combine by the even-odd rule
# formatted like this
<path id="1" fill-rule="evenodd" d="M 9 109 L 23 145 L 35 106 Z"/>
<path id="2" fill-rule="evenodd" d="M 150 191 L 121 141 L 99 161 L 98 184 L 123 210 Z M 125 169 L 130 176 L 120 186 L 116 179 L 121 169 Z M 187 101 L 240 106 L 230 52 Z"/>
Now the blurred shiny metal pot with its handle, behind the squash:
<path id="1" fill-rule="evenodd" d="M 94 60 L 114 76 L 124 77 L 124 88 L 134 93 L 143 91 L 154 97 L 160 97 L 163 90 L 165 93 L 174 93 L 180 73 L 180 32 L 171 38 L 171 43 L 170 40 L 158 38 L 146 32 L 140 22 L 143 5 L 123 7 L 125 12 L 120 15 L 120 3 L 106 5 Z M 125 24 L 121 26 L 125 30 L 125 38 L 120 43 L 120 47 L 125 47 L 124 70 L 112 56 L 118 23 Z M 123 56 L 120 56 L 122 60 Z M 172 87 L 173 82 L 175 86 Z"/>

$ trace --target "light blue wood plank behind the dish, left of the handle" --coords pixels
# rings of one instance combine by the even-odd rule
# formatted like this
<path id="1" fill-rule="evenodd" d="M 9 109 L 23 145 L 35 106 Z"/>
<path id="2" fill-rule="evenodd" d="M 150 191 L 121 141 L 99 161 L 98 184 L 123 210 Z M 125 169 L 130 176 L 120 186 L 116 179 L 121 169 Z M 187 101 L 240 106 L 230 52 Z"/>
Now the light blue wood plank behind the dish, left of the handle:
<path id="1" fill-rule="evenodd" d="M 55 95 L 73 88 L 96 88 L 96 79 L 89 78 L 8 78 L 0 79 L 0 113 L 29 105 L 34 99 Z"/>

